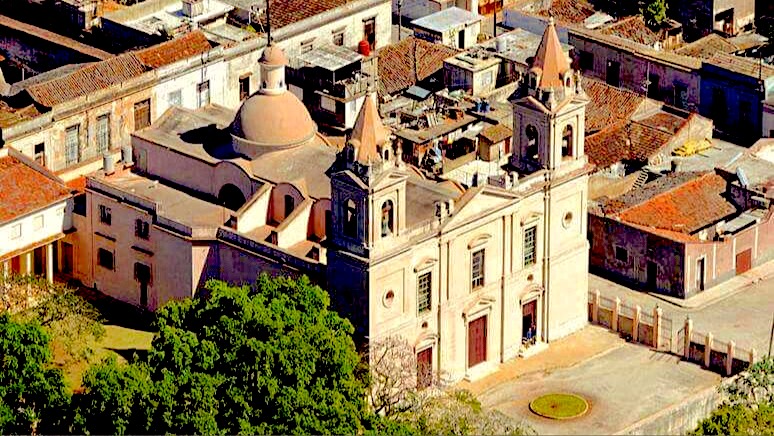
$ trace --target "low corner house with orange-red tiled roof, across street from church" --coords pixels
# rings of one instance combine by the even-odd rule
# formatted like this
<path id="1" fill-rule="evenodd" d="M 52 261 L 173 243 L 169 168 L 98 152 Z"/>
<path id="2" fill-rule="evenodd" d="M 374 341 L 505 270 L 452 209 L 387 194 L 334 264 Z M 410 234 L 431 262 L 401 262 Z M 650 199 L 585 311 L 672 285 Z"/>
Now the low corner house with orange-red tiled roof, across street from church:
<path id="1" fill-rule="evenodd" d="M 601 201 L 589 216 L 592 271 L 690 298 L 771 260 L 770 195 L 738 174 L 673 172 Z"/>

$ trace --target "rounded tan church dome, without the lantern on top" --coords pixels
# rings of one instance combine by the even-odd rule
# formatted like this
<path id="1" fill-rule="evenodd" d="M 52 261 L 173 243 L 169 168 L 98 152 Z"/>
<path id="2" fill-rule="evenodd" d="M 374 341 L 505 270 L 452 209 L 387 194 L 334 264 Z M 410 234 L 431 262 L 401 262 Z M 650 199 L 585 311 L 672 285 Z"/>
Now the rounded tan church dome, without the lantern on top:
<path id="1" fill-rule="evenodd" d="M 316 133 L 317 126 L 306 106 L 290 92 L 251 96 L 231 124 L 237 151 L 247 156 L 257 154 L 257 150 L 250 150 L 256 146 L 293 147 L 309 141 Z"/>

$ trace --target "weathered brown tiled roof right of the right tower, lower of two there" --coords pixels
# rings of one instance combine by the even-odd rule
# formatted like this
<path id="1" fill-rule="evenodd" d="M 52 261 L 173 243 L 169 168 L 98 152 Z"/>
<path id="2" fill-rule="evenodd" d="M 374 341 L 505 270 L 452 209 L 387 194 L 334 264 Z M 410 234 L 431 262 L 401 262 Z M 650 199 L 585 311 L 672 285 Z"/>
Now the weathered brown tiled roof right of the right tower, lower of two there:
<path id="1" fill-rule="evenodd" d="M 607 168 L 616 162 L 647 162 L 672 139 L 672 134 L 640 124 L 621 122 L 586 137 L 589 162 Z"/>

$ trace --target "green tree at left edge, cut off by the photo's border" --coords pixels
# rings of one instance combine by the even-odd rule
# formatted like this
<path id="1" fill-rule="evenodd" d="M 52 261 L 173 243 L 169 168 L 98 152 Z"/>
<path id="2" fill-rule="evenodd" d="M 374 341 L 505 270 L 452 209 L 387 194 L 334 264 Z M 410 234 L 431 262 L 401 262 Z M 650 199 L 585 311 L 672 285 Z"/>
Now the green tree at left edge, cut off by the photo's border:
<path id="1" fill-rule="evenodd" d="M 0 315 L 0 433 L 55 433 L 69 401 L 51 368 L 49 335 L 34 322 Z"/>

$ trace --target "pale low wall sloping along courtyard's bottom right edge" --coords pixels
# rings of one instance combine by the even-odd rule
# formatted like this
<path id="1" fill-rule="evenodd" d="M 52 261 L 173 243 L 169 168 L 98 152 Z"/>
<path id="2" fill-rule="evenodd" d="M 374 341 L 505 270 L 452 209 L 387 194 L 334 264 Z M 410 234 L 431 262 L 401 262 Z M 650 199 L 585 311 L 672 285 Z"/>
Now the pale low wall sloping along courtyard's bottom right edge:
<path id="1" fill-rule="evenodd" d="M 735 378 L 724 380 L 721 386 L 732 382 Z M 712 386 L 691 395 L 678 404 L 641 419 L 616 434 L 685 434 L 695 429 L 702 419 L 708 417 L 718 407 L 721 400 L 722 396 L 718 392 L 718 386 Z"/>

